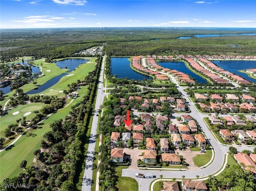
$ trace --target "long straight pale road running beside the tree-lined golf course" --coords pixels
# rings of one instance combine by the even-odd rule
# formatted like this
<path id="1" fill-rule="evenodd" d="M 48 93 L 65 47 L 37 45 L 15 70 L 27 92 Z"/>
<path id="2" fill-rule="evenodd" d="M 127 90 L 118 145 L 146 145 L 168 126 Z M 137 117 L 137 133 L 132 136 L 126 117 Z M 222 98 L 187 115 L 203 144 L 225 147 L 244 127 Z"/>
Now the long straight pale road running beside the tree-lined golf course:
<path id="1" fill-rule="evenodd" d="M 102 59 L 102 67 L 100 71 L 100 79 L 98 84 L 98 93 L 96 96 L 94 116 L 92 119 L 92 129 L 90 133 L 89 146 L 87 150 L 86 165 L 84 168 L 84 176 L 82 181 L 82 191 L 90 191 L 91 185 L 96 182 L 92 179 L 94 151 L 96 144 L 97 128 L 98 128 L 98 109 L 102 106 L 105 93 L 103 92 L 103 70 L 104 70 L 105 56 Z"/>

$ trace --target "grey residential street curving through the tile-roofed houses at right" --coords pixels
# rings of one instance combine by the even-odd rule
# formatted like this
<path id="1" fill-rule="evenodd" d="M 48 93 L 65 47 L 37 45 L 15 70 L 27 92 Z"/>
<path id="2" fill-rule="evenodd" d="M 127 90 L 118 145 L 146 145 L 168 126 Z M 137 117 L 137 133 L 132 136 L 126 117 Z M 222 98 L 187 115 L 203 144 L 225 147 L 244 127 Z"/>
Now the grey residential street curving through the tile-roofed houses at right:
<path id="1" fill-rule="evenodd" d="M 145 63 L 142 59 L 142 64 L 145 67 Z M 163 73 L 163 72 L 160 72 Z M 166 73 L 164 73 L 166 74 Z M 138 181 L 139 184 L 139 191 L 146 191 L 149 190 L 149 185 L 150 183 L 156 179 L 159 178 L 160 175 L 163 175 L 164 178 L 182 178 L 182 176 L 184 175 L 186 178 L 196 178 L 196 175 L 199 175 L 200 177 L 207 177 L 208 175 L 214 174 L 216 173 L 216 171 L 218 171 L 223 162 L 224 162 L 224 155 L 226 152 L 228 152 L 228 147 L 224 146 L 222 144 L 220 144 L 218 141 L 216 141 L 216 139 L 214 138 L 214 136 L 212 135 L 212 133 L 210 132 L 210 130 L 208 129 L 208 127 L 206 126 L 206 124 L 203 121 L 203 118 L 205 116 L 207 116 L 206 114 L 201 114 L 198 113 L 197 110 L 194 108 L 194 103 L 192 103 L 189 99 L 188 99 L 188 95 L 187 93 L 184 91 L 183 87 L 180 87 L 178 85 L 178 82 L 176 81 L 176 79 L 169 74 L 168 75 L 172 81 L 174 83 L 176 83 L 178 90 L 182 93 L 183 98 L 186 99 L 187 104 L 189 105 L 189 108 L 191 110 L 190 116 L 192 116 L 193 118 L 195 118 L 198 122 L 198 124 L 200 124 L 200 127 L 202 128 L 207 140 L 210 142 L 210 146 L 212 146 L 214 148 L 214 154 L 215 154 L 215 158 L 214 161 L 208 165 L 205 168 L 199 169 L 199 170 L 186 170 L 186 171 L 160 171 L 160 170 L 132 170 L 132 169 L 123 169 L 122 171 L 122 176 L 127 176 L 127 177 L 133 177 L 134 179 L 136 179 L 136 181 Z M 173 114 L 173 116 L 180 116 L 180 114 Z M 247 150 L 252 150 L 252 147 L 247 147 L 247 146 L 242 146 L 242 147 L 237 147 L 238 151 L 247 149 Z M 152 173 L 153 175 L 155 175 L 155 178 L 151 178 L 151 179 L 143 179 L 143 178 L 138 178 L 138 177 L 134 177 L 135 173 Z"/>

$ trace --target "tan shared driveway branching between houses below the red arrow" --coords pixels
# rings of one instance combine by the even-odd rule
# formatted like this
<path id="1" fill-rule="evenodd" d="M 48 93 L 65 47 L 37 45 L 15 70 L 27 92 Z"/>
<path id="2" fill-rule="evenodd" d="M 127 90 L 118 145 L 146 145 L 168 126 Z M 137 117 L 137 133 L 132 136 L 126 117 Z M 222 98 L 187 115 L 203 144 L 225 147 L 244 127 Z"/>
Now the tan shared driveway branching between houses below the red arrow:
<path id="1" fill-rule="evenodd" d="M 124 153 L 130 155 L 131 165 L 128 169 L 139 169 L 137 167 L 137 160 L 143 160 L 142 153 L 144 153 L 144 149 L 138 149 L 138 145 L 134 145 L 134 149 L 124 148 Z"/>

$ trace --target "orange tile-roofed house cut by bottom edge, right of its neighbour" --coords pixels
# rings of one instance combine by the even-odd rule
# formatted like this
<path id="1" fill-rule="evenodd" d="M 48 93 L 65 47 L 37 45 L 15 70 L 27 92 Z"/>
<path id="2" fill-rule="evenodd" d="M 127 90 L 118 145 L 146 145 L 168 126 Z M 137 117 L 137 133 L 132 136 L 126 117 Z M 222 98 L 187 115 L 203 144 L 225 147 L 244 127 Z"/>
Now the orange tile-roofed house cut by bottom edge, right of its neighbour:
<path id="1" fill-rule="evenodd" d="M 208 188 L 203 180 L 185 180 L 182 179 L 181 187 L 183 191 L 207 191 Z"/>

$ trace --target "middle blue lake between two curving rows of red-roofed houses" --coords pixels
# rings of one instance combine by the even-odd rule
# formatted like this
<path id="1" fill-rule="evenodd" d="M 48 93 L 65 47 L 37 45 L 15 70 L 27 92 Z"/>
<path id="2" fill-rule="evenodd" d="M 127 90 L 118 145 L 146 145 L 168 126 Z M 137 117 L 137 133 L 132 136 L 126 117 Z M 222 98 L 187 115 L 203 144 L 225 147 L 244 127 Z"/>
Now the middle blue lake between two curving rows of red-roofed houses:
<path id="1" fill-rule="evenodd" d="M 162 67 L 169 68 L 169 69 L 172 69 L 172 70 L 175 69 L 175 70 L 178 70 L 178 71 L 183 72 L 185 74 L 188 74 L 192 78 L 194 78 L 196 81 L 198 81 L 198 83 L 208 83 L 205 79 L 196 75 L 190 69 L 188 69 L 188 67 L 186 67 L 186 64 L 184 62 L 181 62 L 181 61 L 163 62 L 163 61 L 161 61 L 161 62 L 158 62 L 158 64 L 161 65 Z"/>

